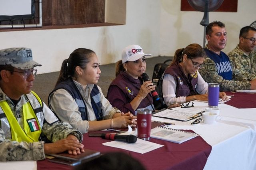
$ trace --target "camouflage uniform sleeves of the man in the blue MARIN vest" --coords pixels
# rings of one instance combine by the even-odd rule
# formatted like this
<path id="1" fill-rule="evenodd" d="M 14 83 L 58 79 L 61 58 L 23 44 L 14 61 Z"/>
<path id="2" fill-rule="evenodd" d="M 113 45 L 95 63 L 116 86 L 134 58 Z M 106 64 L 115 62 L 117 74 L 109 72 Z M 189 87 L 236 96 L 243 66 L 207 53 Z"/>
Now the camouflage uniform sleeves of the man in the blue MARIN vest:
<path id="1" fill-rule="evenodd" d="M 206 45 L 205 48 L 208 49 L 208 46 Z M 230 64 L 234 68 L 232 62 Z M 198 71 L 207 83 L 219 83 L 220 91 L 248 90 L 251 87 L 250 82 L 238 69 L 232 70 L 232 80 L 223 79 L 222 76 L 218 75 L 214 61 L 207 56 L 204 59 L 204 65 Z"/>

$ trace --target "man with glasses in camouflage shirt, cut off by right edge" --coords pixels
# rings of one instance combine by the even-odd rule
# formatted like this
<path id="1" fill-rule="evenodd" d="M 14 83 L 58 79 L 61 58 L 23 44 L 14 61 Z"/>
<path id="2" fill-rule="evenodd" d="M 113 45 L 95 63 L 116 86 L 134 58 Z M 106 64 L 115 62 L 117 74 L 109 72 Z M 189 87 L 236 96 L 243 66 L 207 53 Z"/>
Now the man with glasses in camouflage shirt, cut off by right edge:
<path id="1" fill-rule="evenodd" d="M 228 53 L 234 67 L 248 79 L 256 78 L 256 29 L 250 26 L 243 27 L 239 34 L 239 44 Z"/>

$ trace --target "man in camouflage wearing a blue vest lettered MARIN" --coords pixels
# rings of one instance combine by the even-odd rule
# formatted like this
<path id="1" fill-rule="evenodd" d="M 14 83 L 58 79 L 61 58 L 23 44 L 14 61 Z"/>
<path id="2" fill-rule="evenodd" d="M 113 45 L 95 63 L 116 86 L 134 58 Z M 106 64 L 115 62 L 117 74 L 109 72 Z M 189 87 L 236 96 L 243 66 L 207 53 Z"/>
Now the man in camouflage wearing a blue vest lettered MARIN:
<path id="1" fill-rule="evenodd" d="M 199 73 L 207 83 L 219 83 L 220 91 L 256 89 L 256 79 L 248 81 L 230 62 L 228 55 L 221 50 L 226 46 L 226 28 L 222 22 L 212 22 L 206 27 L 204 48 L 206 58 Z"/>

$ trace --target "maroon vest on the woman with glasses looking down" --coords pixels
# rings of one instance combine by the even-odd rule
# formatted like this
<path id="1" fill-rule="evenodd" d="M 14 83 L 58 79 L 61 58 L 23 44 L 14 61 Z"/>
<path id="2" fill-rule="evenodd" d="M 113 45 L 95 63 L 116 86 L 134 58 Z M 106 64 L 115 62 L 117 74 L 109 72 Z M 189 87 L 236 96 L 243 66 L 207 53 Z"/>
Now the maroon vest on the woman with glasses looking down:
<path id="1" fill-rule="evenodd" d="M 176 97 L 197 95 L 197 72 L 194 75 L 189 74 L 188 77 L 184 74 L 179 62 L 167 67 L 164 74 L 170 74 L 174 77 L 177 83 Z"/>

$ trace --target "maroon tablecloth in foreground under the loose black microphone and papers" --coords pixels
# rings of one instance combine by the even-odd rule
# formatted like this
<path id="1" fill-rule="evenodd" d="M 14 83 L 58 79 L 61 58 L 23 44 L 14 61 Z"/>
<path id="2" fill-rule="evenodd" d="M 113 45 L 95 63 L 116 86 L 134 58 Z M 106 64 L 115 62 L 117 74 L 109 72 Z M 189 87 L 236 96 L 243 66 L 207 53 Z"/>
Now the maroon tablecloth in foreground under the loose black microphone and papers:
<path id="1" fill-rule="evenodd" d="M 189 131 L 192 132 L 192 130 Z M 147 170 L 202 170 L 212 150 L 212 146 L 206 143 L 201 136 L 197 136 L 182 144 L 154 138 L 151 138 L 149 141 L 164 146 L 145 154 L 139 154 L 128 150 L 103 146 L 102 143 L 109 142 L 109 140 L 89 137 L 88 133 L 84 134 L 84 141 L 82 143 L 85 148 L 98 150 L 102 154 L 106 152 L 125 152 L 138 159 Z M 37 161 L 37 169 L 71 170 L 72 167 L 48 162 L 46 159 Z"/>

